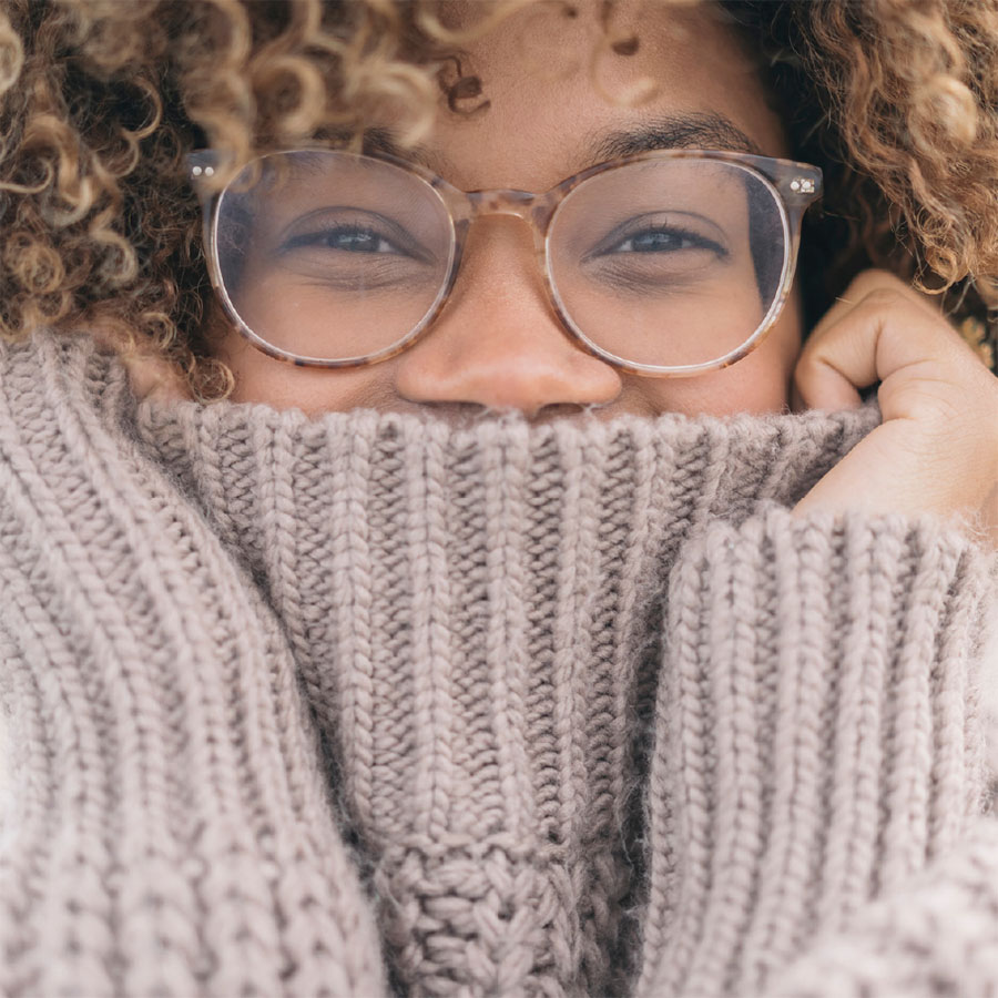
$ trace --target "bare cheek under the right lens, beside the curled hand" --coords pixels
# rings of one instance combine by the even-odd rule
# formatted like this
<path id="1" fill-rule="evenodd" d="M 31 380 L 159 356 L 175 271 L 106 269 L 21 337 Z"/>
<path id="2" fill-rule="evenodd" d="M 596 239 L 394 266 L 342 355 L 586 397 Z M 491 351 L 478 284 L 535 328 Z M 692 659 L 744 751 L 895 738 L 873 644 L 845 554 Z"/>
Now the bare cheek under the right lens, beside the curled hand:
<path id="1" fill-rule="evenodd" d="M 801 352 L 796 302 L 787 304 L 768 336 L 732 367 L 695 378 L 630 378 L 629 393 L 648 413 L 686 416 L 764 415 L 788 408 L 790 380 Z"/>

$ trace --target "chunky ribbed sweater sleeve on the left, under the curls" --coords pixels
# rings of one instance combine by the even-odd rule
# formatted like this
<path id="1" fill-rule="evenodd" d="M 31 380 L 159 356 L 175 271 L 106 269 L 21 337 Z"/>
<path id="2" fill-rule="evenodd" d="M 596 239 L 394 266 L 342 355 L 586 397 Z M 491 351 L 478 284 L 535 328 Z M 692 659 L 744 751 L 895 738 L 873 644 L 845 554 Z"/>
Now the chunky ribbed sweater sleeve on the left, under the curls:
<path id="1" fill-rule="evenodd" d="M 0 994 L 384 994 L 281 629 L 106 360 L 0 350 Z"/>

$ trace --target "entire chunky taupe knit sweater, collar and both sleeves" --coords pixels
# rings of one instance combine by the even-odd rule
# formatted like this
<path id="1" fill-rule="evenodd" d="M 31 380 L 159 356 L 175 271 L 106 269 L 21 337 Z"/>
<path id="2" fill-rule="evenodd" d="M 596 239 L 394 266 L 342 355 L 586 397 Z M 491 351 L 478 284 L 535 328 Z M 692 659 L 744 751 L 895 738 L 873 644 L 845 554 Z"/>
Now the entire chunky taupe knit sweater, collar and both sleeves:
<path id="1" fill-rule="evenodd" d="M 878 418 L 309 419 L 3 346 L 0 994 L 991 994 L 994 556 L 790 512 Z"/>

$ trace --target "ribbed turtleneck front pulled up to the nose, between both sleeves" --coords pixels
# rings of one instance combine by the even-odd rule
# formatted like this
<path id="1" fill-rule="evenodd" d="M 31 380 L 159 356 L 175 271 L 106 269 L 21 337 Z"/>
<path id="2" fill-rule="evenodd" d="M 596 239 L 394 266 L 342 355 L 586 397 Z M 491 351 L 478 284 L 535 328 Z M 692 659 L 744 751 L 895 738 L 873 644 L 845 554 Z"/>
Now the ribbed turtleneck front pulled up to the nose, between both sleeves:
<path id="1" fill-rule="evenodd" d="M 714 518 L 794 502 L 877 421 L 875 405 L 460 428 L 232 403 L 136 414 L 276 610 L 397 982 L 429 992 L 461 950 L 488 990 L 483 895 L 523 920 L 531 980 L 623 986 L 676 553 Z"/>

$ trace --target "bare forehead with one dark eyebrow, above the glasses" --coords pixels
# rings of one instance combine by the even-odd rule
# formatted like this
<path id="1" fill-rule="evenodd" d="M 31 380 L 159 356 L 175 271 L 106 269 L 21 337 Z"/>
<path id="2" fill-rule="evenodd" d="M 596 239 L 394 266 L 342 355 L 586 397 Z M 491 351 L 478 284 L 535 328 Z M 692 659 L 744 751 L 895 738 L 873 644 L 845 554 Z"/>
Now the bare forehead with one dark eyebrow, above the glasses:
<path id="1" fill-rule="evenodd" d="M 465 44 L 461 71 L 481 82 L 478 110 L 441 102 L 420 159 L 466 189 L 546 190 L 645 149 L 788 152 L 753 53 L 713 2 L 529 4 Z"/>

